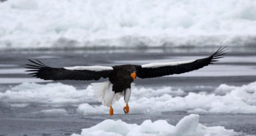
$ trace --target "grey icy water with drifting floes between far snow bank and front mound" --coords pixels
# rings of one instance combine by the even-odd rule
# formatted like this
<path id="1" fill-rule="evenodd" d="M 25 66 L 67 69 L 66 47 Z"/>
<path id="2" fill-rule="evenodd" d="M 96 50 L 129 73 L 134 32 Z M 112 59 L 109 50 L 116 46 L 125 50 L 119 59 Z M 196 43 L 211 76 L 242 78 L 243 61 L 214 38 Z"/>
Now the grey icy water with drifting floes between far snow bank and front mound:
<path id="1" fill-rule="evenodd" d="M 111 117 L 88 86 L 95 81 L 45 82 L 26 75 L 23 68 L 29 63 L 27 58 L 38 58 L 52 67 L 147 64 L 207 57 L 215 50 L 0 51 L 0 135 L 71 135 L 105 119 L 139 125 L 145 119 L 164 119 L 176 125 L 191 113 L 200 115 L 202 125 L 255 135 L 255 48 L 228 48 L 220 62 L 198 71 L 136 79 L 131 113 L 124 114 L 124 105 L 118 102 Z M 97 82 L 101 81 L 105 80 Z"/>

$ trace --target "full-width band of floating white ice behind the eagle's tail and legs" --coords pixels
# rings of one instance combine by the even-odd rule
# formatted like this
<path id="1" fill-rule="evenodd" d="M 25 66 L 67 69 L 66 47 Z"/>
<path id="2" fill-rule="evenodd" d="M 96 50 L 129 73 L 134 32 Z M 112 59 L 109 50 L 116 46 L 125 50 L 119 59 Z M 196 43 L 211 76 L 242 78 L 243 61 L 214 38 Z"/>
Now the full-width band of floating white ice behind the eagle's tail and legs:
<path id="1" fill-rule="evenodd" d="M 204 88 L 204 86 L 201 86 Z M 0 102 L 13 106 L 17 104 L 41 103 L 52 106 L 77 105 L 81 116 L 109 114 L 109 108 L 97 104 L 92 86 L 77 90 L 74 86 L 61 83 L 22 83 L 6 92 L 0 92 Z M 124 99 L 113 105 L 114 114 L 124 114 Z M 256 113 L 256 82 L 243 86 L 220 85 L 211 93 L 186 93 L 172 87 L 138 88 L 132 87 L 129 100 L 129 114 L 161 112 L 189 113 Z"/>

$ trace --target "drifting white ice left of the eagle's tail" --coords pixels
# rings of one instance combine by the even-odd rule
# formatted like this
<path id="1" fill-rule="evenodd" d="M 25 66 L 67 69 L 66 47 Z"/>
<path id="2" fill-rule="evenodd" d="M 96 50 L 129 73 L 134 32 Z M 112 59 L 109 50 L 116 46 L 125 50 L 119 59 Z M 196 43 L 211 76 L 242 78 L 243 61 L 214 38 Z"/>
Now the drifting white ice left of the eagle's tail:
<path id="1" fill-rule="evenodd" d="M 0 93 L 1 102 L 26 103 L 36 102 L 40 104 L 67 105 L 81 104 L 83 102 L 95 102 L 93 92 L 76 90 L 74 86 L 61 83 L 49 83 L 39 85 L 36 83 L 22 83 L 11 90 Z"/>

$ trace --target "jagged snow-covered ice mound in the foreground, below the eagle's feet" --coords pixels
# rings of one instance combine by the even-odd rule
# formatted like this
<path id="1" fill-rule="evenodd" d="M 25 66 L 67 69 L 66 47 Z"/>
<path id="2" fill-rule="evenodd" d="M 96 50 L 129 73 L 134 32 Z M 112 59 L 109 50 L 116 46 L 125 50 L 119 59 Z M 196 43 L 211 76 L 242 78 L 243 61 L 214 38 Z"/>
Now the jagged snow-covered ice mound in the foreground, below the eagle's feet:
<path id="1" fill-rule="evenodd" d="M 176 126 L 168 124 L 165 120 L 145 120 L 141 125 L 128 124 L 122 120 L 106 119 L 91 128 L 82 129 L 81 135 L 238 135 L 234 130 L 226 130 L 223 126 L 207 127 L 199 123 L 199 115 L 190 114 L 180 119 Z"/>

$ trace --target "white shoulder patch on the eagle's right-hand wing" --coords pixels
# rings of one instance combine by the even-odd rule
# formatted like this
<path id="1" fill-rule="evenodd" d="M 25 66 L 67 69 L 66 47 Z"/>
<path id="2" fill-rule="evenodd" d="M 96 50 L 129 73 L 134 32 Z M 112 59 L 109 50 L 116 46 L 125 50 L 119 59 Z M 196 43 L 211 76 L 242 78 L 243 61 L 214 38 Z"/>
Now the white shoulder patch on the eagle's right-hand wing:
<path id="1" fill-rule="evenodd" d="M 187 60 L 187 61 L 181 61 L 181 62 L 151 63 L 151 64 L 141 65 L 141 67 L 142 67 L 142 68 L 156 68 L 156 67 L 164 67 L 164 66 L 188 64 L 188 63 L 191 63 L 191 62 L 195 62 L 195 60 Z"/>

